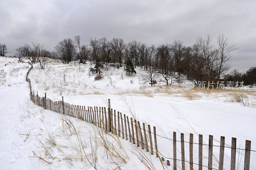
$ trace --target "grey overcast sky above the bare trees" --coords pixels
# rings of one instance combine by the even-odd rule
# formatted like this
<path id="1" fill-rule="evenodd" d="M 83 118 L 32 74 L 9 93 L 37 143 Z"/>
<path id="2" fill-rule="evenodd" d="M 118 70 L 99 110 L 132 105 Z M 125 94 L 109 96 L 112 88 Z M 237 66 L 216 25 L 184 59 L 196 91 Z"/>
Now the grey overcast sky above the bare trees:
<path id="1" fill-rule="evenodd" d="M 256 67 L 256 1 L 12 1 L 1 0 L 0 42 L 11 53 L 24 43 L 53 47 L 64 38 L 90 37 L 132 39 L 148 45 L 172 43 L 186 46 L 196 37 L 224 33 L 240 48 L 232 53 L 232 69 Z"/>

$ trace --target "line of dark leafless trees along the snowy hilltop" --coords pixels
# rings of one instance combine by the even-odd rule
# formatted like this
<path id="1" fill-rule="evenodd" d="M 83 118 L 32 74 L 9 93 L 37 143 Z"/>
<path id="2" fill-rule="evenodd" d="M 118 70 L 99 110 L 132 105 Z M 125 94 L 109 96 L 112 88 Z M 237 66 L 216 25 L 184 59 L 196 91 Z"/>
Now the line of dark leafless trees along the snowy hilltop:
<path id="1" fill-rule="evenodd" d="M 145 71 L 161 73 L 166 80 L 173 76 L 184 77 L 197 84 L 198 81 L 220 81 L 220 80 L 244 80 L 252 83 L 251 68 L 248 73 L 241 74 L 239 79 L 233 76 L 233 72 L 227 74 L 231 65 L 231 52 L 238 49 L 236 44 L 230 44 L 224 34 L 217 36 L 217 46 L 211 42 L 211 37 L 198 37 L 192 46 L 185 46 L 183 41 L 175 40 L 171 44 L 159 46 L 148 46 L 136 40 L 125 43 L 122 38 L 91 38 L 89 45 L 81 44 L 81 37 L 74 39 L 63 39 L 55 47 L 54 51 L 43 48 L 43 44 L 24 44 L 16 49 L 16 55 L 27 57 L 31 62 L 38 62 L 38 57 L 49 57 L 58 59 L 63 63 L 72 60 L 86 61 L 95 64 L 94 71 L 100 72 L 100 68 L 108 69 L 109 63 L 117 69 L 120 67 L 140 67 Z M 131 66 L 132 65 L 132 66 Z M 252 69 L 253 70 L 253 69 Z M 175 74 L 176 73 L 176 74 Z M 244 76 L 244 78 L 242 78 Z M 246 78 L 245 78 L 246 77 Z M 246 81 L 245 81 L 246 80 Z M 255 81 L 253 82 L 255 83 Z"/>

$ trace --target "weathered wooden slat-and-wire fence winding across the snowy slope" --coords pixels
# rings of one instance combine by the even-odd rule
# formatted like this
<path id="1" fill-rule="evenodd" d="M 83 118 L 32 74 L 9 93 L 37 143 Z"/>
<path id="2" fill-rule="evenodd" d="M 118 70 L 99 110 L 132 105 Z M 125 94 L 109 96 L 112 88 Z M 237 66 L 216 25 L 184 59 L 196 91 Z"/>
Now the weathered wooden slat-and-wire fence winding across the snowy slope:
<path id="1" fill-rule="evenodd" d="M 21 60 L 22 61 L 22 60 Z M 24 62 L 24 61 L 22 61 Z M 29 63 L 29 62 L 28 62 Z M 153 126 L 153 137 L 152 139 L 152 132 L 150 125 L 141 123 L 134 119 L 134 117 L 128 117 L 125 114 L 122 115 L 121 112 L 113 110 L 110 107 L 110 99 L 108 99 L 108 108 L 106 107 L 91 107 L 91 106 L 80 106 L 80 105 L 73 105 L 64 102 L 63 96 L 61 101 L 53 101 L 46 97 L 46 93 L 44 97 L 38 96 L 38 92 L 35 95 L 35 92 L 32 92 L 31 88 L 31 81 L 28 78 L 28 74 L 33 68 L 33 65 L 29 63 L 31 67 L 28 69 L 28 73 L 26 76 L 26 80 L 29 83 L 30 88 L 30 100 L 47 110 L 54 111 L 56 113 L 60 113 L 69 117 L 76 117 L 81 119 L 87 123 L 93 124 L 98 128 L 103 129 L 106 133 L 115 134 L 116 136 L 123 138 L 125 140 L 129 140 L 133 144 L 137 144 L 137 147 L 141 146 L 142 149 L 146 149 L 146 152 L 150 152 L 152 155 L 156 154 L 156 156 L 164 162 L 164 158 L 166 158 L 166 165 L 170 166 L 170 159 L 173 160 L 173 169 L 177 169 L 177 160 L 181 161 L 182 170 L 185 170 L 185 162 L 187 162 L 190 166 L 190 170 L 197 169 L 202 170 L 203 167 L 207 167 L 208 170 L 215 169 L 212 167 L 212 155 L 213 155 L 213 136 L 209 135 L 209 144 L 208 146 L 208 166 L 203 165 L 203 135 L 199 135 L 199 142 L 193 142 L 193 134 L 190 133 L 189 136 L 189 161 L 185 160 L 185 148 L 184 148 L 184 134 L 180 134 L 180 140 L 176 139 L 176 132 L 173 132 L 172 138 L 167 138 L 172 140 L 173 143 L 173 157 L 167 158 L 163 154 L 158 151 L 157 145 L 157 137 L 158 138 L 166 138 L 161 135 L 156 134 L 156 127 Z M 177 142 L 181 144 L 181 160 L 177 159 Z M 149 143 L 149 144 L 148 144 Z M 198 145 L 198 163 L 193 162 L 193 145 Z M 231 147 L 225 146 L 225 137 L 221 136 L 220 138 L 220 156 L 219 156 L 219 167 L 215 170 L 223 170 L 223 163 L 224 163 L 224 148 L 231 149 L 231 164 L 230 170 L 236 170 L 236 151 L 237 150 L 244 150 L 244 170 L 250 169 L 250 152 L 251 150 L 251 141 L 245 141 L 245 149 L 236 148 L 236 138 L 232 138 Z M 179 151 L 179 150 L 178 150 Z M 256 152 L 256 151 L 253 151 Z M 161 156 L 160 156 L 161 155 Z"/>

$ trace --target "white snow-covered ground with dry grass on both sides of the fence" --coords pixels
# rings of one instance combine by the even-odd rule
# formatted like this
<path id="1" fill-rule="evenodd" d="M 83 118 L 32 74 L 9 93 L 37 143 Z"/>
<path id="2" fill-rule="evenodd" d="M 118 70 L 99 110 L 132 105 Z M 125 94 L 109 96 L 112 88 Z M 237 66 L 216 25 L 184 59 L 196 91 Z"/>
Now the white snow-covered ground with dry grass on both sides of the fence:
<path id="1" fill-rule="evenodd" d="M 8 61 L 7 61 L 8 62 Z M 14 61 L 16 62 L 16 61 Z M 77 153 L 77 138 L 74 130 L 68 132 L 67 126 L 62 126 L 62 116 L 49 110 L 42 110 L 29 101 L 28 83 L 25 81 L 27 66 L 24 63 L 11 63 L 1 67 L 8 75 L 1 85 L 0 112 L 2 146 L 0 152 L 0 162 L 2 169 L 93 169 L 88 160 L 74 159 Z M 84 106 L 106 106 L 107 99 L 111 100 L 111 108 L 120 111 L 131 117 L 131 112 L 136 114 L 137 120 L 156 126 L 157 134 L 172 138 L 172 132 L 177 132 L 177 140 L 180 140 L 180 133 L 184 133 L 185 141 L 189 141 L 189 133 L 194 134 L 194 142 L 198 142 L 197 134 L 202 134 L 204 143 L 208 144 L 208 135 L 213 135 L 213 145 L 220 145 L 220 136 L 225 136 L 225 145 L 231 145 L 231 137 L 237 138 L 237 147 L 244 148 L 245 140 L 251 140 L 251 149 L 255 150 L 256 141 L 256 116 L 255 116 L 255 93 L 244 92 L 249 96 L 249 107 L 244 107 L 234 102 L 233 91 L 207 91 L 207 90 L 185 90 L 176 86 L 157 86 L 143 87 L 139 78 L 140 69 L 137 68 L 137 75 L 126 76 L 123 68 L 115 71 L 112 68 L 103 70 L 103 79 L 94 81 L 95 74 L 89 75 L 89 64 L 69 65 L 52 62 L 47 65 L 45 70 L 39 69 L 37 64 L 31 70 L 32 90 L 38 91 L 40 96 L 47 93 L 47 97 L 55 100 L 64 96 L 64 101 L 70 104 Z M 20 69 L 18 69 L 20 68 Z M 12 71 L 12 70 L 15 70 Z M 65 90 L 60 95 L 58 86 L 64 79 L 65 71 Z M 12 73 L 12 74 L 11 74 Z M 18 76 L 17 76 L 18 75 Z M 132 81 L 132 82 L 131 82 Z M 8 95 L 6 95 L 8 94 Z M 30 118 L 28 117 L 30 112 Z M 42 120 L 42 121 L 41 121 Z M 90 155 L 90 141 L 88 134 L 93 136 L 93 128 L 86 122 L 71 118 L 86 144 Z M 65 123 L 64 123 L 65 124 Z M 30 136 L 24 142 L 31 128 Z M 55 138 L 56 146 L 47 143 L 50 133 Z M 63 130 L 62 130 L 63 129 Z M 63 132 L 64 131 L 64 132 Z M 90 131 L 90 132 L 89 132 Z M 70 135 L 73 134 L 73 135 Z M 97 135 L 98 136 L 98 135 Z M 49 148 L 49 152 L 54 159 L 45 154 L 42 143 Z M 78 139 L 79 140 L 79 139 Z M 111 140 L 111 138 L 110 138 Z M 120 139 L 124 150 L 127 153 L 127 163 L 118 162 L 121 169 L 145 169 L 140 160 L 132 154 L 132 148 L 136 145 Z M 172 158 L 172 141 L 157 137 L 158 149 L 166 157 Z M 118 148 L 118 144 L 114 144 Z M 92 147 L 93 148 L 93 147 Z M 177 142 L 178 155 L 180 159 L 180 143 Z M 185 157 L 189 160 L 188 143 L 185 143 Z M 95 148 L 94 148 L 95 149 Z M 141 148 L 138 148 L 141 150 Z M 32 158 L 33 152 L 37 156 L 45 157 L 51 163 L 43 163 L 42 160 Z M 213 154 L 219 158 L 219 147 L 213 147 Z M 225 148 L 224 168 L 230 168 L 230 149 Z M 111 163 L 113 160 L 107 159 L 104 148 L 98 144 L 98 168 L 115 169 L 116 165 Z M 144 154 L 147 152 L 143 151 Z M 194 145 L 194 163 L 198 163 L 198 145 Z M 148 155 L 148 154 L 147 154 Z M 208 165 L 208 150 L 203 150 L 203 165 Z M 242 159 L 240 158 L 242 155 Z M 91 156 L 91 155 L 90 155 Z M 56 158 L 55 158 L 56 157 Z M 155 155 L 151 157 L 156 169 L 162 169 L 159 160 Z M 244 152 L 236 153 L 236 159 L 241 163 L 238 169 L 243 169 Z M 172 160 L 168 169 L 173 169 Z M 214 161 L 216 167 L 216 161 Z M 166 164 L 166 159 L 165 159 Z M 181 162 L 178 161 L 178 169 L 181 169 Z M 256 153 L 251 152 L 251 169 L 256 168 Z M 189 164 L 186 163 L 186 169 Z M 197 166 L 195 165 L 195 169 Z M 203 168 L 204 169 L 204 168 Z"/>

